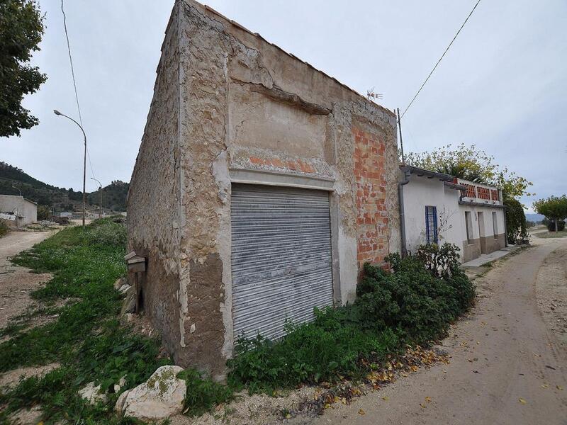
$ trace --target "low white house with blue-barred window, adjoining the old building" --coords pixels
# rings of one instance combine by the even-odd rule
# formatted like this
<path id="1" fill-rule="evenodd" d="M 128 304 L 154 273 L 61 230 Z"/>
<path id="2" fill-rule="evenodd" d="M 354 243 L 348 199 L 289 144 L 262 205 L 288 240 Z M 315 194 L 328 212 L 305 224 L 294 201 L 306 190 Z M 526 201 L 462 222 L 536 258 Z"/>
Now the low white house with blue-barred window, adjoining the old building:
<path id="1" fill-rule="evenodd" d="M 507 246 L 502 191 L 414 166 L 401 166 L 402 251 L 449 242 L 471 261 Z"/>

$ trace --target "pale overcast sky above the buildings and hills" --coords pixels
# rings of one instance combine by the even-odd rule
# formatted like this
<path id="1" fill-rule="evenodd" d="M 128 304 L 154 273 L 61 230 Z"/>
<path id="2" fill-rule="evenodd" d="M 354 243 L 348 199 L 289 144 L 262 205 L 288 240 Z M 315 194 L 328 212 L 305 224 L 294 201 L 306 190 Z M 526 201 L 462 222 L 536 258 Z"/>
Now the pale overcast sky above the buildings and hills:
<path id="1" fill-rule="evenodd" d="M 411 98 L 476 0 L 208 0 L 206 4 L 386 108 Z M 0 161 L 80 190 L 82 133 L 61 4 L 40 0 L 45 35 L 33 64 L 47 74 L 23 105 L 40 120 L 0 138 Z M 172 0 L 66 0 L 67 28 L 92 171 L 86 191 L 130 181 L 150 108 Z M 534 183 L 567 192 L 567 2 L 482 0 L 403 117 L 405 151 L 476 145 Z"/>

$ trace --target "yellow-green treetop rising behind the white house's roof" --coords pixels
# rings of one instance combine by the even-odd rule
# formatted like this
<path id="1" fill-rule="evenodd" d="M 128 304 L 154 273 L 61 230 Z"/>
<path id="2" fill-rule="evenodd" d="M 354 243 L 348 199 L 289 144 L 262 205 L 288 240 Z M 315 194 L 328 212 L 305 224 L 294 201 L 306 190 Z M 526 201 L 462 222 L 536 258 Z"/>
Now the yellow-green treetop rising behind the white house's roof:
<path id="1" fill-rule="evenodd" d="M 529 196 L 527 188 L 532 183 L 517 176 L 507 167 L 494 163 L 494 157 L 475 145 L 467 147 L 464 143 L 452 147 L 442 146 L 432 152 L 410 152 L 405 155 L 405 163 L 422 169 L 451 174 L 460 179 L 485 183 L 502 188 L 508 196 L 519 198 Z"/>

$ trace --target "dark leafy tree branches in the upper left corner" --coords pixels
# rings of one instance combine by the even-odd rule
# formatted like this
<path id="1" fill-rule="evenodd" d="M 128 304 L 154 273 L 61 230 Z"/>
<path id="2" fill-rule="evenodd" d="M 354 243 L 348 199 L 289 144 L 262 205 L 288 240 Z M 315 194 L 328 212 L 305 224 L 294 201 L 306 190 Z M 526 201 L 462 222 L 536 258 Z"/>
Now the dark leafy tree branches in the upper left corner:
<path id="1" fill-rule="evenodd" d="M 47 79 L 26 64 L 40 50 L 43 20 L 33 0 L 0 0 L 0 137 L 19 136 L 21 129 L 39 123 L 21 103 Z"/>

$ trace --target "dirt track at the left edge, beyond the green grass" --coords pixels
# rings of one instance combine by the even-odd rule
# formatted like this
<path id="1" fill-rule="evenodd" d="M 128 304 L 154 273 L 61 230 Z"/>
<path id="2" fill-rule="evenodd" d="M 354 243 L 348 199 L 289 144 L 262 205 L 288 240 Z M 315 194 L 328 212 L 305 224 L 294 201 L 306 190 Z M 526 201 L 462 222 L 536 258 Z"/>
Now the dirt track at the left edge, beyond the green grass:
<path id="1" fill-rule="evenodd" d="M 0 329 L 8 319 L 23 313 L 31 304 L 30 292 L 49 280 L 48 273 L 29 273 L 13 265 L 9 257 L 47 239 L 54 232 L 10 232 L 0 239 Z"/>

